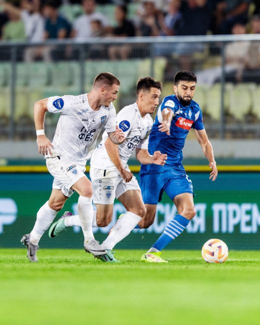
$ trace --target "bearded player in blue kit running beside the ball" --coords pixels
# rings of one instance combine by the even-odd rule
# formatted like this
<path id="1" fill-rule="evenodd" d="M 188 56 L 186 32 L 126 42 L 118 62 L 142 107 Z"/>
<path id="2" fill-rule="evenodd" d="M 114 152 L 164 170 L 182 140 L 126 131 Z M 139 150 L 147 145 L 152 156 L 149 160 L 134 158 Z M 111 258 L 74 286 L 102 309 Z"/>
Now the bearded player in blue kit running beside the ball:
<path id="1" fill-rule="evenodd" d="M 172 217 L 163 233 L 151 248 L 141 256 L 146 262 L 167 262 L 160 257 L 161 250 L 186 228 L 195 215 L 193 187 L 191 180 L 181 163 L 182 148 L 190 128 L 194 129 L 196 138 L 209 161 L 211 172 L 209 178 L 217 177 L 216 162 L 212 145 L 207 138 L 199 105 L 192 100 L 196 87 L 196 76 L 190 71 L 179 71 L 174 76 L 175 94 L 166 96 L 158 109 L 149 135 L 148 151 L 167 154 L 165 165 L 142 164 L 140 169 L 140 188 L 146 207 L 146 214 L 137 227 L 149 227 L 155 217 L 157 203 L 162 192 L 172 199 L 177 214 Z M 165 125 L 168 131 L 161 131 Z"/>

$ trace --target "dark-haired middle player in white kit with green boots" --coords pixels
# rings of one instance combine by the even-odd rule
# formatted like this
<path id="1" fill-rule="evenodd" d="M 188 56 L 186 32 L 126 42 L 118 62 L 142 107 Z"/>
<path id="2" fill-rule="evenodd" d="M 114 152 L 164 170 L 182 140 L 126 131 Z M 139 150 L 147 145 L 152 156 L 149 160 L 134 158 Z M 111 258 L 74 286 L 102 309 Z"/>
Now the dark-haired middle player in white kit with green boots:
<path id="1" fill-rule="evenodd" d="M 111 251 L 114 245 L 126 237 L 145 215 L 140 187 L 130 172 L 127 161 L 135 150 L 136 158 L 144 164 L 164 165 L 166 154 L 155 151 L 148 153 L 148 134 L 152 126 L 152 114 L 159 103 L 161 91 L 160 81 L 150 77 L 137 81 L 137 100 L 134 104 L 123 107 L 117 114 L 117 125 L 124 132 L 125 141 L 114 145 L 107 134 L 95 149 L 90 160 L 90 178 L 93 184 L 93 202 L 96 211 L 93 213 L 93 226 L 106 226 L 112 219 L 113 202 L 116 197 L 124 205 L 126 212 L 112 227 L 101 246 L 106 254 L 97 258 L 105 262 L 117 262 Z M 161 131 L 168 127 L 161 123 Z M 55 237 L 69 226 L 81 225 L 77 215 L 65 212 L 49 229 L 49 236 Z M 82 226 L 82 225 L 81 225 Z"/>

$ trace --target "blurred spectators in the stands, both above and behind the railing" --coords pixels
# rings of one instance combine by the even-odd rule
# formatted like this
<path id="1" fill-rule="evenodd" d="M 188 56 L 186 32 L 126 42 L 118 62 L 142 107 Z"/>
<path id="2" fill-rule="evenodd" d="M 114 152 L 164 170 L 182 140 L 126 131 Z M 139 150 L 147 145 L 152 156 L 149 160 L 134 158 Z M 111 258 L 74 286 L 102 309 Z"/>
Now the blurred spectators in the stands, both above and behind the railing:
<path id="1" fill-rule="evenodd" d="M 92 37 L 93 44 L 87 45 L 85 51 L 88 58 L 117 60 L 149 56 L 144 44 L 140 48 L 136 44 L 105 46 L 95 41 L 95 37 L 246 33 L 260 33 L 260 0 L 0 0 L 2 42 L 35 43 L 69 38 L 77 43 Z M 190 54 L 204 53 L 205 48 L 200 42 L 155 43 L 154 53 L 155 56 L 177 57 L 179 68 L 192 69 L 194 60 Z M 226 73 L 241 81 L 245 69 L 259 69 L 259 49 L 258 42 L 228 43 Z M 8 50 L 1 47 L 0 60 L 10 57 Z M 217 51 L 217 46 L 214 50 Z M 213 53 L 211 48 L 211 54 L 219 53 Z M 47 62 L 77 59 L 79 55 L 79 50 L 73 46 L 44 46 L 43 43 L 25 46 L 21 59 Z M 202 55 L 200 57 L 203 59 Z M 201 83 L 213 84 L 220 74 L 219 64 L 213 64 L 199 72 L 198 79 Z"/>

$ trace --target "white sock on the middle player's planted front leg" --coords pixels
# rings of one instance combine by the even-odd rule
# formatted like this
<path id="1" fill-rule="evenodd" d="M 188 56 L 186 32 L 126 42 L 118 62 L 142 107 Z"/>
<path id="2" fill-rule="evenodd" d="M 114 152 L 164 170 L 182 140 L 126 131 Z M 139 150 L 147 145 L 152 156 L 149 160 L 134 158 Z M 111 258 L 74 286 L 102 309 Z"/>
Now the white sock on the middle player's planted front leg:
<path id="1" fill-rule="evenodd" d="M 141 217 L 139 215 L 126 211 L 111 228 L 107 238 L 102 242 L 102 247 L 105 249 L 112 249 L 117 242 L 131 232 L 140 220 Z"/>

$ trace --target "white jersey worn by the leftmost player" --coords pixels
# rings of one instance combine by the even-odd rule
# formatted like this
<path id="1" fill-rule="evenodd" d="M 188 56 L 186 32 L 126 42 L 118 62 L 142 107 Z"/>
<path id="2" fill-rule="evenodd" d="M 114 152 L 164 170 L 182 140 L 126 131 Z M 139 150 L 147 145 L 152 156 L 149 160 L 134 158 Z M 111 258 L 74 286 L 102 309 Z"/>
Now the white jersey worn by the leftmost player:
<path id="1" fill-rule="evenodd" d="M 60 113 L 54 138 L 52 155 L 64 155 L 80 163 L 85 163 L 92 155 L 100 131 L 115 131 L 116 112 L 114 105 L 101 106 L 93 110 L 87 94 L 64 95 L 48 98 L 47 109 Z"/>

